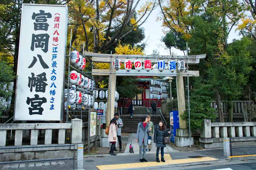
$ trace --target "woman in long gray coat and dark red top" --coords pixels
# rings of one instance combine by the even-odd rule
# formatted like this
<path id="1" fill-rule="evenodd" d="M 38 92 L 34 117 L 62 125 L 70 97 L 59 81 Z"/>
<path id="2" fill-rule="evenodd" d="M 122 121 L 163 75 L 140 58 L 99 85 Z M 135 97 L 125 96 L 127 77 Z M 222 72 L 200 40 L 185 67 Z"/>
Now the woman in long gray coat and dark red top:
<path id="1" fill-rule="evenodd" d="M 148 128 L 148 118 L 146 116 L 142 116 L 141 122 L 138 124 L 136 141 L 140 145 L 140 161 L 147 162 L 146 158 L 146 150 L 148 145 L 148 133 L 152 128 Z"/>

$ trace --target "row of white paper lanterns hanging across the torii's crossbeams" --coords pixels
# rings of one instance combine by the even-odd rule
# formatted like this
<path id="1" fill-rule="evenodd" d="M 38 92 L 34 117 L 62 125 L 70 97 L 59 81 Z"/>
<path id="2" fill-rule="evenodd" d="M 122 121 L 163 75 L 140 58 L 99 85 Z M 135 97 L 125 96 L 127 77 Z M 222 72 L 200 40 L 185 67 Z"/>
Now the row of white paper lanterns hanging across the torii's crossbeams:
<path id="1" fill-rule="evenodd" d="M 142 62 L 140 59 L 135 59 L 133 62 L 130 59 L 126 59 L 124 61 L 124 69 L 126 71 L 130 71 L 132 69 L 132 64 L 134 64 L 134 68 L 137 71 L 142 70 Z M 119 58 L 115 58 L 113 61 L 113 66 L 116 70 L 119 70 L 121 68 L 121 60 Z M 152 68 L 152 62 L 149 59 L 144 60 L 143 62 L 143 68 L 146 71 L 150 71 Z M 177 62 L 177 68 L 179 71 L 184 71 L 185 70 L 185 61 L 182 59 Z M 157 69 L 162 72 L 165 70 L 165 61 L 164 60 L 159 60 L 157 61 Z M 170 60 L 168 62 L 168 69 L 171 72 L 174 72 L 176 70 L 176 61 Z"/>

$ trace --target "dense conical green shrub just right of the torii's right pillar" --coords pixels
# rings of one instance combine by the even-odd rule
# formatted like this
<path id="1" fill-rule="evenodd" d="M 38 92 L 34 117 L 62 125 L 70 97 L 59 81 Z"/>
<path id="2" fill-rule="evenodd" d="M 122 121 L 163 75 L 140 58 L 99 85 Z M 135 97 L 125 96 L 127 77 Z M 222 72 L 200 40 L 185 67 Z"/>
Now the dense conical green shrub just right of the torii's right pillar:
<path id="1" fill-rule="evenodd" d="M 200 78 L 196 78 L 194 89 L 190 93 L 190 126 L 192 130 L 202 129 L 204 119 L 214 122 L 217 118 L 214 108 L 210 106 L 213 98 L 209 96 L 209 89 L 201 84 Z M 187 107 L 188 108 L 188 107 Z M 183 119 L 188 123 L 188 111 L 183 115 Z"/>

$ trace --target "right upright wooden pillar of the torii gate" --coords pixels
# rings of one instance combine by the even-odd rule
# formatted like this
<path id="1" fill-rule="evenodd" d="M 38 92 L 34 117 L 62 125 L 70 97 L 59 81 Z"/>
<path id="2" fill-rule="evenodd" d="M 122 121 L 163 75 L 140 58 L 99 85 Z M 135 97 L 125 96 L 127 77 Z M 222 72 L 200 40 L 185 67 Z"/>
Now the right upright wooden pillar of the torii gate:
<path id="1" fill-rule="evenodd" d="M 176 73 L 177 74 L 182 73 L 182 72 L 178 71 L 177 66 L 176 66 Z M 176 88 L 177 88 L 177 100 L 178 100 L 180 129 L 187 129 L 186 120 L 181 118 L 181 115 L 183 115 L 186 110 L 183 75 L 176 76 Z"/>

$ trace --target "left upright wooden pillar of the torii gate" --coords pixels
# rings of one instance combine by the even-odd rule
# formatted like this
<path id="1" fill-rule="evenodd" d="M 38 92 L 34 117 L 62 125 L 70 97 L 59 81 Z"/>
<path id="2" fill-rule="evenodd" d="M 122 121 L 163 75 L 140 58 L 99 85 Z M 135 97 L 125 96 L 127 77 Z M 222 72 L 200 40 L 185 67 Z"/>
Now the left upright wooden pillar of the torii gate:
<path id="1" fill-rule="evenodd" d="M 114 58 L 112 58 L 112 61 Z M 116 72 L 113 64 L 110 63 L 111 72 Z M 110 120 L 115 114 L 115 84 L 116 84 L 116 74 L 110 74 L 108 79 L 108 106 L 107 106 L 107 121 L 106 125 L 110 123 Z"/>

